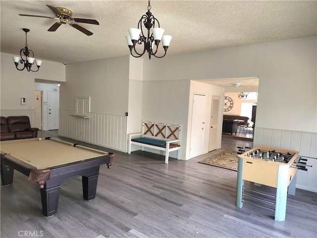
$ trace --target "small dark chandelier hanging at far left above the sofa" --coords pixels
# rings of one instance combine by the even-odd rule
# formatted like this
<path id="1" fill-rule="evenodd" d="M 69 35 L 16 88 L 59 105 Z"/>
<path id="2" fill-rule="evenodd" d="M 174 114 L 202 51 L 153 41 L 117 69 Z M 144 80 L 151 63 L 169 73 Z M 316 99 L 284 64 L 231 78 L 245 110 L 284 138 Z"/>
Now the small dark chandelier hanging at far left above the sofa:
<path id="1" fill-rule="evenodd" d="M 28 44 L 27 44 L 27 40 L 26 40 L 26 37 L 27 37 L 26 34 L 30 30 L 26 29 L 26 28 L 23 28 L 23 31 L 25 32 L 25 47 L 20 50 L 20 57 L 13 56 L 13 61 L 14 61 L 15 67 L 16 67 L 17 70 L 20 70 L 20 71 L 22 71 L 25 68 L 28 70 L 28 72 L 30 72 L 30 71 L 32 71 L 32 72 L 39 71 L 41 63 L 42 63 L 42 60 L 35 60 L 33 58 L 34 57 L 34 53 L 33 53 L 33 51 L 29 50 Z M 25 57 L 25 60 L 23 60 L 22 52 L 23 52 L 23 55 Z M 32 53 L 32 57 L 30 57 L 30 53 Z M 24 63 L 24 67 L 21 68 L 21 69 L 18 68 L 19 61 L 22 64 Z M 37 70 L 32 70 L 31 69 L 32 65 L 34 64 L 34 61 L 36 63 L 36 66 L 38 67 Z"/>

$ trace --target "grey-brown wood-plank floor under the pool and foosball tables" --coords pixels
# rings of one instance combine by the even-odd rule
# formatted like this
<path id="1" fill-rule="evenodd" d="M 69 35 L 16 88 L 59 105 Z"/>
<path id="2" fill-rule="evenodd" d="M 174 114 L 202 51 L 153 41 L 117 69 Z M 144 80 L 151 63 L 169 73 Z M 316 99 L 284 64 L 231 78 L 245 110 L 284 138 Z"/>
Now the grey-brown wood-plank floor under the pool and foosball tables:
<path id="1" fill-rule="evenodd" d="M 39 136 L 56 137 L 57 131 Z M 277 222 L 273 211 L 235 206 L 237 172 L 198 163 L 237 146 L 252 147 L 252 140 L 223 135 L 221 149 L 168 165 L 152 153 L 114 151 L 111 168 L 101 166 L 96 198 L 84 201 L 81 178 L 69 179 L 50 218 L 42 215 L 37 184 L 15 171 L 13 184 L 1 187 L 0 237 L 316 238 L 317 193 L 288 195 L 286 220 Z M 271 187 L 257 189 L 275 194 Z"/>

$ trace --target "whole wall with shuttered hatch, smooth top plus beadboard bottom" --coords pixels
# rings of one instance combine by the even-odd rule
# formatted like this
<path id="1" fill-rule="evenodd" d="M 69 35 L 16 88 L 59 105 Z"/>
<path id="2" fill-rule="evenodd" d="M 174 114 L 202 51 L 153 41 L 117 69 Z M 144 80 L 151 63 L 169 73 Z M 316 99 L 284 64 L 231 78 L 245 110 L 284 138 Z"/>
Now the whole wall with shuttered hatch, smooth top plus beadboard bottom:
<path id="1" fill-rule="evenodd" d="M 59 135 L 126 152 L 129 65 L 128 56 L 67 64 L 67 80 L 60 87 Z M 87 119 L 71 116 L 77 96 L 90 97 Z"/>

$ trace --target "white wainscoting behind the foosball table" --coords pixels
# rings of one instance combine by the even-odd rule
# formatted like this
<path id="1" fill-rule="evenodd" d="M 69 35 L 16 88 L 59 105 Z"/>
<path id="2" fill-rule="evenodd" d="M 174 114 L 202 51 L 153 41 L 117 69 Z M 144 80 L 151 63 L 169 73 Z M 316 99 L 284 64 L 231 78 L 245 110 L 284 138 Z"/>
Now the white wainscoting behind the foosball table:
<path id="1" fill-rule="evenodd" d="M 296 187 L 317 192 L 317 133 L 256 127 L 253 145 L 299 151 L 312 167 L 298 171 Z"/>

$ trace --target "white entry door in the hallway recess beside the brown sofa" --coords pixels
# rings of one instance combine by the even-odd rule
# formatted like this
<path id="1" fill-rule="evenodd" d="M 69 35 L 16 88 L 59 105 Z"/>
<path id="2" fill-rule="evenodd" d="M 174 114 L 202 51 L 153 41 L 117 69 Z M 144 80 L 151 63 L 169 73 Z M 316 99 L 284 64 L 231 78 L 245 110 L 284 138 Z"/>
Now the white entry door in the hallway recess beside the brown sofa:
<path id="1" fill-rule="evenodd" d="M 50 92 L 48 95 L 48 122 L 49 130 L 58 129 L 59 92 Z"/>

